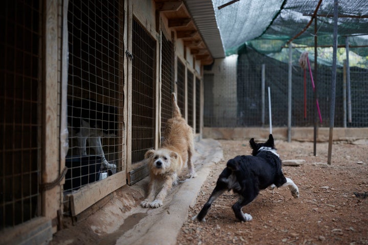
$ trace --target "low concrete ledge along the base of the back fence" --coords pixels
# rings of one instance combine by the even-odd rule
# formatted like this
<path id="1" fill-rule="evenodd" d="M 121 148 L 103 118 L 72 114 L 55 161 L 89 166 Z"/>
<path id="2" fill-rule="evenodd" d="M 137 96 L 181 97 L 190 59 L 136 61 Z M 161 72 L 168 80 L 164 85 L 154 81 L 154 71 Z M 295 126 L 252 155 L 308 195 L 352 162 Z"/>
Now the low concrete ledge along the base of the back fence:
<path id="1" fill-rule="evenodd" d="M 317 141 L 329 140 L 329 128 L 317 128 Z M 273 138 L 287 140 L 287 128 L 272 128 Z M 313 141 L 314 129 L 291 128 L 291 140 Z M 268 138 L 268 128 L 203 128 L 203 138 L 239 140 L 250 138 Z M 354 141 L 368 139 L 368 128 L 334 128 L 334 141 Z"/>

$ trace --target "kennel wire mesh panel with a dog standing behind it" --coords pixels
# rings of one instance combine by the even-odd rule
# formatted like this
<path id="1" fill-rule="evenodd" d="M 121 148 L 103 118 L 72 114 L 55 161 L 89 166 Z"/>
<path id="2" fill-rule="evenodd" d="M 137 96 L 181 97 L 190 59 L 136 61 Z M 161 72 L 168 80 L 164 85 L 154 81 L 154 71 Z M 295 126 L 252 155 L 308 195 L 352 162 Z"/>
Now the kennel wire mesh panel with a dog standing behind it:
<path id="1" fill-rule="evenodd" d="M 121 1 L 68 3 L 69 146 L 64 191 L 123 170 L 123 9 Z"/>

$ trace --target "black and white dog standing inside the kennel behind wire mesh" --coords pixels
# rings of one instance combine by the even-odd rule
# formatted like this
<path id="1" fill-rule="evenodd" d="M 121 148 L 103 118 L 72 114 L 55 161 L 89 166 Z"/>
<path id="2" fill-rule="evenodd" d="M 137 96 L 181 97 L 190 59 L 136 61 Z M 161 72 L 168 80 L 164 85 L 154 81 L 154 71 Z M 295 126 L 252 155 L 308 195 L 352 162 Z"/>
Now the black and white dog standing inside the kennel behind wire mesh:
<path id="1" fill-rule="evenodd" d="M 103 169 L 114 169 L 115 164 L 109 163 L 102 150 L 101 138 L 117 136 L 118 108 L 104 105 L 91 99 L 67 101 L 68 126 L 77 140 L 77 154 L 87 155 L 86 144 L 102 157 Z"/>

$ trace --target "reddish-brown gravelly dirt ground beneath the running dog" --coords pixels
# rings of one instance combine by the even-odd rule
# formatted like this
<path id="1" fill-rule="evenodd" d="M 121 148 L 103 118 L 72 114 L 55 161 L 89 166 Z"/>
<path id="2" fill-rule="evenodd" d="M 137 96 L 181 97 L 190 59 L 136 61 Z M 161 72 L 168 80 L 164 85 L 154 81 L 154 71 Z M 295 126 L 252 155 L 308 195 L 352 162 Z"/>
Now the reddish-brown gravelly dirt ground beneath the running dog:
<path id="1" fill-rule="evenodd" d="M 239 222 L 231 209 L 237 197 L 227 192 L 218 198 L 206 222 L 192 221 L 208 200 L 226 161 L 249 155 L 247 141 L 219 140 L 223 161 L 204 182 L 197 204 L 177 237 L 177 244 L 368 244 L 368 141 L 335 142 L 327 165 L 328 143 L 275 141 L 282 160 L 304 159 L 300 166 L 284 166 L 284 174 L 298 186 L 294 199 L 288 188 L 263 190 L 243 212 L 250 222 Z"/>

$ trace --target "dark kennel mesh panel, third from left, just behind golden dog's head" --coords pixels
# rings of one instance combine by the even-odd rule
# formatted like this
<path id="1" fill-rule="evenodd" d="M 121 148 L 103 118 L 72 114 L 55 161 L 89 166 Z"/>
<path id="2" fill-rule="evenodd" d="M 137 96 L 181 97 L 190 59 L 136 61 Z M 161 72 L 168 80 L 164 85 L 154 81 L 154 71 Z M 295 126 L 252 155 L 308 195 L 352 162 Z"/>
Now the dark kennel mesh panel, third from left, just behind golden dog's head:
<path id="1" fill-rule="evenodd" d="M 156 41 L 133 19 L 132 163 L 144 159 L 155 139 Z"/>

